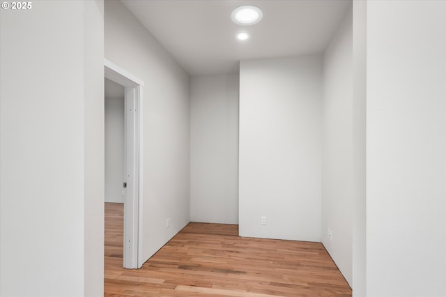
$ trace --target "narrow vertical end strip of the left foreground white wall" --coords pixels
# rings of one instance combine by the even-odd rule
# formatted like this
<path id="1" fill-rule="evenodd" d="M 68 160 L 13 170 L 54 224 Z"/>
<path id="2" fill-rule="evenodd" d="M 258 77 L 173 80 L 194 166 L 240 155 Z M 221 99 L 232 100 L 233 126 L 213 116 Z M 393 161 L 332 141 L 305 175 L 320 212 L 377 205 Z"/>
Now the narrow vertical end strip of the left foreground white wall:
<path id="1" fill-rule="evenodd" d="M 84 3 L 84 296 L 93 297 L 104 294 L 104 2 L 102 0 L 82 2 Z M 71 59 L 71 56 L 67 55 L 66 59 Z"/>

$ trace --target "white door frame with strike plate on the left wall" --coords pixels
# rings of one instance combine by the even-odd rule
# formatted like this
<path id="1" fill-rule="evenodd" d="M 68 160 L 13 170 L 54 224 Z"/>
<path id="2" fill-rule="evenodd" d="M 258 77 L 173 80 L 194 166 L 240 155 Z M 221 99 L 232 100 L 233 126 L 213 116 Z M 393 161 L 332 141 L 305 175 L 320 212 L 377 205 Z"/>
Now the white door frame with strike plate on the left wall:
<path id="1" fill-rule="evenodd" d="M 124 203 L 123 267 L 141 268 L 142 261 L 142 87 L 144 82 L 134 75 L 104 60 L 104 75 L 125 87 L 125 156 L 124 171 L 127 188 Z"/>

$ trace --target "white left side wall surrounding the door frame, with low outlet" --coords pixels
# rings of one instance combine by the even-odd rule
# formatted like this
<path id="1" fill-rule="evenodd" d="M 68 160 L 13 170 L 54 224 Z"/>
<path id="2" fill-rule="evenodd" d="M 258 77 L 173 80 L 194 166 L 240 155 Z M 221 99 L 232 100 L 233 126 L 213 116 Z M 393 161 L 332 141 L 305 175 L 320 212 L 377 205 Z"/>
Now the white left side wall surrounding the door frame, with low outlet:
<path id="1" fill-rule="evenodd" d="M 105 1 L 105 58 L 144 81 L 141 227 L 148 259 L 190 222 L 190 79 L 119 1 Z"/>

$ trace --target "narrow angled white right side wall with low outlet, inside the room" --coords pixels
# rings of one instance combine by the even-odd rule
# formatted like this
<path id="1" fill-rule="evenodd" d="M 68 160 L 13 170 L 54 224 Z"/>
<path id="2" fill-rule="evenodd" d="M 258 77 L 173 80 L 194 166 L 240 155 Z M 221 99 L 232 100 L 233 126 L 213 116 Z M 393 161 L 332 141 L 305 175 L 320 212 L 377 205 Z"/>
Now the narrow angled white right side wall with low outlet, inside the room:
<path id="1" fill-rule="evenodd" d="M 323 56 L 321 230 L 323 245 L 350 285 L 354 187 L 352 22 L 349 10 Z"/>

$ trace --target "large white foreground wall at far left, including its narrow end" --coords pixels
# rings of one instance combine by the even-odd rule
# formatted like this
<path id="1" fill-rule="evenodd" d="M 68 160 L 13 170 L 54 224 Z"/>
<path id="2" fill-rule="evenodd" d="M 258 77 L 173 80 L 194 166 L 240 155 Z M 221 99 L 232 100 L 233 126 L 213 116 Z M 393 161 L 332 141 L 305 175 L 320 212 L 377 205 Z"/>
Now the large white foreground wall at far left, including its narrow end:
<path id="1" fill-rule="evenodd" d="M 0 20 L 0 295 L 102 296 L 102 1 Z"/>

